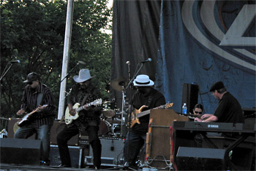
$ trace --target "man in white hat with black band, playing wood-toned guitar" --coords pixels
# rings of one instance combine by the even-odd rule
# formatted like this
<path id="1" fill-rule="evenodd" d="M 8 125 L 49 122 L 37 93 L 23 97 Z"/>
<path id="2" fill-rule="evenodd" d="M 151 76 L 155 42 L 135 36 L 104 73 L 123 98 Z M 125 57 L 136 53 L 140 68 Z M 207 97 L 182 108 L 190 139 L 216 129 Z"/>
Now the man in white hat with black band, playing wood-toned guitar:
<path id="1" fill-rule="evenodd" d="M 129 102 L 130 111 L 136 111 L 142 106 L 146 111 L 150 108 L 156 108 L 158 106 L 165 105 L 165 97 L 159 91 L 155 90 L 154 82 L 149 79 L 147 75 L 138 75 L 133 81 L 133 85 L 137 88 L 137 91 L 132 96 L 132 100 Z M 148 132 L 149 114 L 140 117 L 140 124 L 135 124 L 134 127 L 129 129 L 127 138 L 124 144 L 124 162 L 125 167 L 131 167 L 138 170 L 135 162 L 140 152 L 140 148 L 144 146 L 144 153 L 146 152 L 146 132 Z"/>

